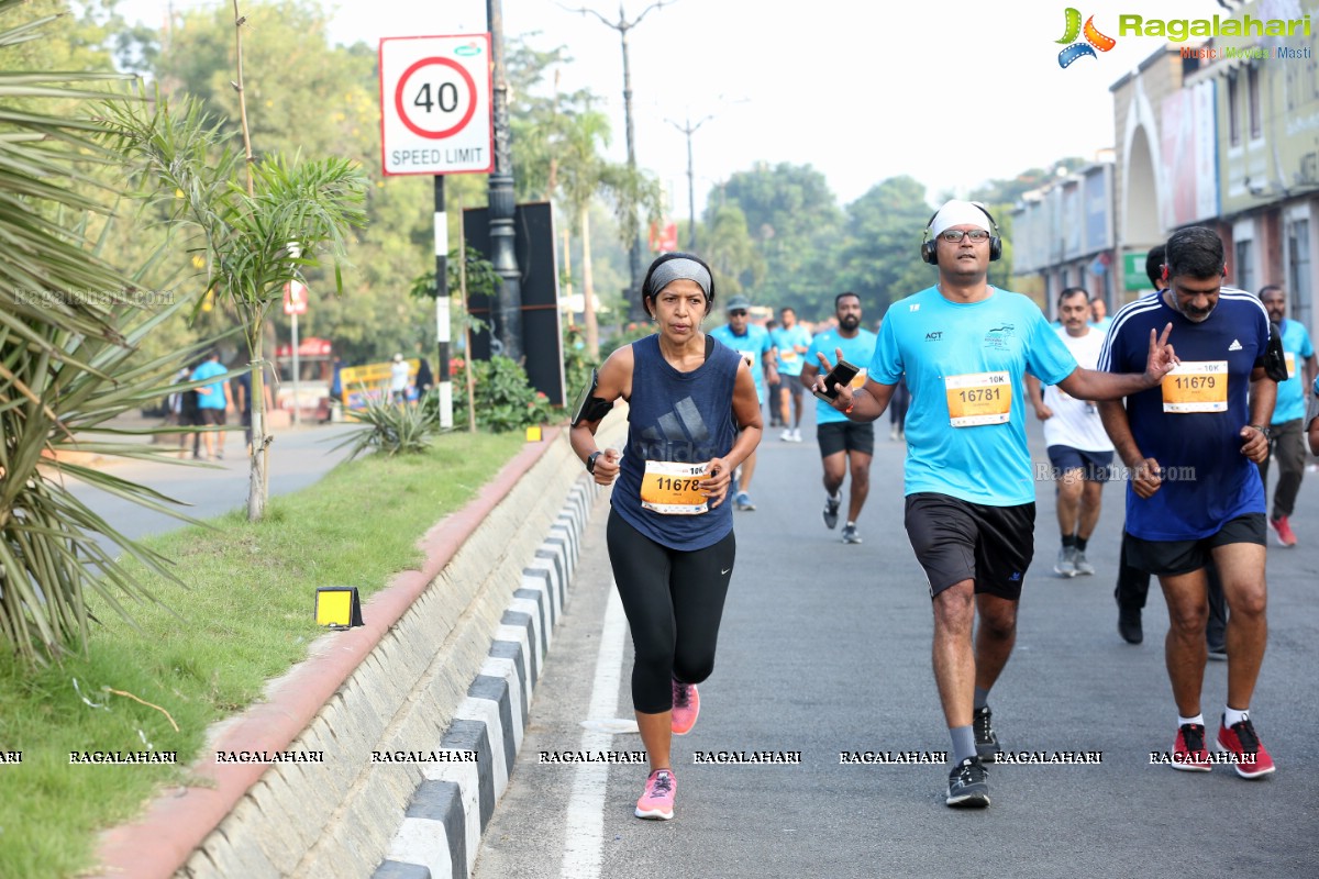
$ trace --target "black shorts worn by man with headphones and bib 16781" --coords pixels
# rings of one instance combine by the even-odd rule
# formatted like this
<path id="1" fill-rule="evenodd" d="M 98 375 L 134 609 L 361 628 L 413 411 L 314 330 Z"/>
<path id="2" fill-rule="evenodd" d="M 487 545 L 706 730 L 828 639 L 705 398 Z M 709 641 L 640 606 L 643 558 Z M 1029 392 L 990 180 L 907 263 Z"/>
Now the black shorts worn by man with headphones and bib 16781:
<path id="1" fill-rule="evenodd" d="M 1035 505 L 985 506 L 922 492 L 906 499 L 906 530 L 930 597 L 963 580 L 1017 601 L 1035 555 Z"/>

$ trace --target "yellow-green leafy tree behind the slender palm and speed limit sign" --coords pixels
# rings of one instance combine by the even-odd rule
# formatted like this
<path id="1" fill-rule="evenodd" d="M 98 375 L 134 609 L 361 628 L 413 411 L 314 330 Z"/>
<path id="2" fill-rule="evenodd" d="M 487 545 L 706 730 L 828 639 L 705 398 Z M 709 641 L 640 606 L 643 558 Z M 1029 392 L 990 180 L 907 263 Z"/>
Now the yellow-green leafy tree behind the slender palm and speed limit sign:
<path id="1" fill-rule="evenodd" d="M 237 136 L 241 123 L 233 80 L 233 16 L 227 4 L 178 13 L 164 40 L 156 78 L 166 94 L 189 94 Z M 355 266 L 339 281 L 306 268 L 310 308 L 303 336 L 324 336 L 350 362 L 418 351 L 434 341 L 433 311 L 410 298 L 412 279 L 434 269 L 434 195 L 430 177 L 385 177 L 380 167 L 376 47 L 332 46 L 328 12 L 311 0 L 244 7 L 243 54 L 256 71 L 247 88 L 248 121 L 257 156 L 340 156 L 365 178 L 367 225 L 353 242 Z M 458 240 L 456 206 L 485 203 L 484 178 L 448 177 L 450 240 Z M 203 279 L 199 278 L 198 283 Z M 214 315 L 236 320 L 228 303 Z M 289 337 L 289 318 L 270 315 L 273 335 Z M 429 348 L 425 348 L 429 349 Z"/>

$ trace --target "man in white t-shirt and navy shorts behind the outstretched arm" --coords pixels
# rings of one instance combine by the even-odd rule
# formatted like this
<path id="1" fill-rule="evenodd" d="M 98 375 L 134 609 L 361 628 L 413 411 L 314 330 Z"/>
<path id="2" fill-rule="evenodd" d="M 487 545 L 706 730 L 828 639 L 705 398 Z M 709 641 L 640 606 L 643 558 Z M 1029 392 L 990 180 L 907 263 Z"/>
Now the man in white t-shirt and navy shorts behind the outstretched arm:
<path id="1" fill-rule="evenodd" d="M 1095 369 L 1104 333 L 1089 324 L 1089 294 L 1082 287 L 1063 290 L 1058 294 L 1058 316 L 1062 320 L 1058 337 L 1080 366 Z M 1041 399 L 1039 381 L 1028 374 L 1026 383 L 1035 418 L 1045 423 L 1045 444 L 1058 485 L 1062 547 L 1054 573 L 1060 577 L 1095 573 L 1095 567 L 1086 560 L 1086 543 L 1099 523 L 1113 444 L 1093 402 L 1068 397 L 1057 385 L 1045 387 Z"/>

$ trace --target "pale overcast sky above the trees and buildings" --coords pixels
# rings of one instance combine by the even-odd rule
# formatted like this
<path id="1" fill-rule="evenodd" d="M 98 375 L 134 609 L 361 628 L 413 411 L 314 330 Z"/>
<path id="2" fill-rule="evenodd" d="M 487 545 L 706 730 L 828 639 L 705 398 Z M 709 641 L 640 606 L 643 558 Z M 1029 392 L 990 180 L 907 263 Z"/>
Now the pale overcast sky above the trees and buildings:
<path id="1" fill-rule="evenodd" d="M 1270 1 L 1277 14 L 1289 7 L 1301 14 L 1297 0 Z M 621 3 L 629 21 L 652 5 Z M 124 0 L 120 8 L 129 18 L 158 25 L 168 5 Z M 230 0 L 173 5 L 228 7 Z M 587 5 L 619 21 L 617 0 L 565 5 Z M 652 9 L 628 34 L 637 161 L 660 177 L 674 213 L 686 217 L 687 138 L 667 120 L 686 124 L 708 115 L 692 134 L 698 210 L 711 186 L 757 161 L 813 165 L 843 203 L 888 177 L 910 174 L 933 202 L 1113 145 L 1108 88 L 1163 45 L 1157 37 L 1120 37 L 1119 13 L 1145 20 L 1229 14 L 1215 0 L 1074 5 L 1083 18 L 1095 14 L 1096 28 L 1117 42 L 1062 69 L 1064 45 L 1057 41 L 1066 32 L 1066 1 L 675 0 Z M 326 7 L 336 9 L 331 37 L 338 42 L 376 45 L 381 37 L 485 29 L 484 0 Z M 537 47 L 567 47 L 575 61 L 565 69 L 563 88 L 590 86 L 605 98 L 611 152 L 621 161 L 617 30 L 553 0 L 504 0 L 503 11 L 505 33 L 541 32 Z"/>

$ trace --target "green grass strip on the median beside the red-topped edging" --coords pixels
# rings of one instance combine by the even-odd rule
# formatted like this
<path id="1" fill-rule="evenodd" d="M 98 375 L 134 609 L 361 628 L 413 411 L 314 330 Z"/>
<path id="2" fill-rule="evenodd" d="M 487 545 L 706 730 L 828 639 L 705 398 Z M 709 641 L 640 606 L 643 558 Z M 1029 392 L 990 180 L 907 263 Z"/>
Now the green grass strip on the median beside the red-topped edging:
<path id="1" fill-rule="evenodd" d="M 233 511 L 212 521 L 219 531 L 144 539 L 177 560 L 189 586 L 133 567 L 174 613 L 132 604 L 138 630 L 92 597 L 100 625 L 87 658 L 32 672 L 0 656 L 0 876 L 65 879 L 94 866 L 99 830 L 132 820 L 162 787 L 186 784 L 206 729 L 306 656 L 322 634 L 317 586 L 353 585 L 365 600 L 415 568 L 421 535 L 522 444 L 516 434 L 447 434 L 422 455 L 342 464 L 270 498 L 259 523 Z M 177 751 L 178 766 L 70 763 L 73 751 L 148 743 Z M 5 762 L 13 751 L 21 763 Z"/>

